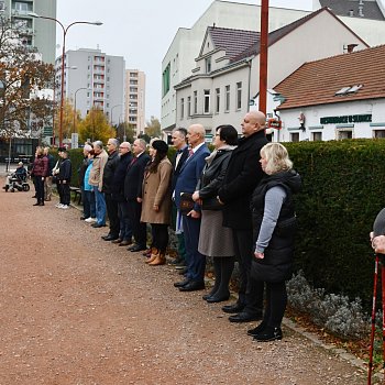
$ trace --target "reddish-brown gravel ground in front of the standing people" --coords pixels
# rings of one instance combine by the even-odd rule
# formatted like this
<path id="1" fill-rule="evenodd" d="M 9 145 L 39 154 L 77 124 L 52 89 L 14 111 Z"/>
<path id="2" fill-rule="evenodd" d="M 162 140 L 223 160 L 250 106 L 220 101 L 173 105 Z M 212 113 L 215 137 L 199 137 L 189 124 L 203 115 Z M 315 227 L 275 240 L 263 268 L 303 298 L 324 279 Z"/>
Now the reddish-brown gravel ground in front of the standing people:
<path id="1" fill-rule="evenodd" d="M 3 186 L 3 178 L 0 178 Z M 0 385 L 358 385 L 366 374 L 302 336 L 256 343 L 172 266 L 100 239 L 75 208 L 0 191 Z"/>

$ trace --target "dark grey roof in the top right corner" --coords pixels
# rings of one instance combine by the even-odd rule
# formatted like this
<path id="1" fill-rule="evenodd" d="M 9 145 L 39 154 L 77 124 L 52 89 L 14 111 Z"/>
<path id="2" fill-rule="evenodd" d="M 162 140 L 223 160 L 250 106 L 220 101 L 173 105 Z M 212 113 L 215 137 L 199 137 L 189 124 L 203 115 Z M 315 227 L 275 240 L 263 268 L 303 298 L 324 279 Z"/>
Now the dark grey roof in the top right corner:
<path id="1" fill-rule="evenodd" d="M 385 20 L 383 12 L 377 4 L 377 1 L 363 1 L 362 13 L 360 16 L 359 0 L 320 0 L 321 7 L 329 7 L 331 11 L 340 16 L 349 16 L 350 11 L 353 12 L 354 18 Z"/>

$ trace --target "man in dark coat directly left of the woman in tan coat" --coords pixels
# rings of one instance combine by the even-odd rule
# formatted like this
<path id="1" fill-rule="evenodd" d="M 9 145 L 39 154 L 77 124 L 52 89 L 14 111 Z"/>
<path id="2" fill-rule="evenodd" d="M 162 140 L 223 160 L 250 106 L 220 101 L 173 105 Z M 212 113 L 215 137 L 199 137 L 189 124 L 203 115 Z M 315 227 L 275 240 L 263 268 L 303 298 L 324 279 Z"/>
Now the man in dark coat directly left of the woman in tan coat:
<path id="1" fill-rule="evenodd" d="M 144 168 L 150 161 L 145 148 L 146 143 L 143 139 L 134 141 L 132 145 L 134 157 L 129 164 L 124 178 L 124 198 L 128 201 L 129 217 L 135 239 L 135 243 L 128 249 L 132 252 L 146 250 L 146 223 L 141 222 L 142 204 L 139 201 L 139 197 L 142 196 Z"/>

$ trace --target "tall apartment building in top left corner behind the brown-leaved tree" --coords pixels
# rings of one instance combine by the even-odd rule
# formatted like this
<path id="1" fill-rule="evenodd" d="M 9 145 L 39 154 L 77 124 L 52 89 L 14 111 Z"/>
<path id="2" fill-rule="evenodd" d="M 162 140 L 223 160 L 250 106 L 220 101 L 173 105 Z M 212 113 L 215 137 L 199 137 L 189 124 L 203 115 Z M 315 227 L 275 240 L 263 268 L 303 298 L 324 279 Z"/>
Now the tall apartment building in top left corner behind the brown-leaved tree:
<path id="1" fill-rule="evenodd" d="M 24 29 L 24 43 L 36 47 L 45 63 L 55 63 L 56 23 L 35 19 L 32 13 L 56 18 L 56 0 L 0 0 L 0 15 Z"/>

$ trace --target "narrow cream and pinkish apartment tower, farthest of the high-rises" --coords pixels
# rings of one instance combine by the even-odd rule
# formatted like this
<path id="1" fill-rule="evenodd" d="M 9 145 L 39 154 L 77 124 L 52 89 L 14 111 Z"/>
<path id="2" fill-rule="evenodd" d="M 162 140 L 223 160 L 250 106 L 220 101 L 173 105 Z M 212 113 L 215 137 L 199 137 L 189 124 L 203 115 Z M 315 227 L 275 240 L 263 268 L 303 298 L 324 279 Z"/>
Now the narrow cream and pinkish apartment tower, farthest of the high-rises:
<path id="1" fill-rule="evenodd" d="M 124 121 L 131 124 L 136 135 L 145 128 L 145 74 L 139 69 L 125 70 Z"/>

